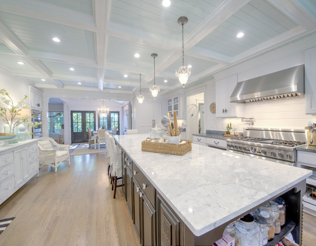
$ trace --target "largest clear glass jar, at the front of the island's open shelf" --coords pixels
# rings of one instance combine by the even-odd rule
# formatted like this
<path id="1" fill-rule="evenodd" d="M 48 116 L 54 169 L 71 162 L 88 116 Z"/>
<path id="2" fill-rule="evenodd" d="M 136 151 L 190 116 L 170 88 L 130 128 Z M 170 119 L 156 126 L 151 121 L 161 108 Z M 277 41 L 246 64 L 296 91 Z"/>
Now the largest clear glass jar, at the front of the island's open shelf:
<path id="1" fill-rule="evenodd" d="M 241 246 L 259 246 L 260 229 L 254 223 L 253 216 L 248 214 L 236 223 L 236 228 L 240 231 Z"/>

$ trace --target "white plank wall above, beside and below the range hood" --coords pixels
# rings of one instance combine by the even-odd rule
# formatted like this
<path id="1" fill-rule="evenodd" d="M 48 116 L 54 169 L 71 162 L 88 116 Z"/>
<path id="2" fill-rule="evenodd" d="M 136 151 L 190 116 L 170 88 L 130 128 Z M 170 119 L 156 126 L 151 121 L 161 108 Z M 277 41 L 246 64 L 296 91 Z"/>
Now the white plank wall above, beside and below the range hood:
<path id="1" fill-rule="evenodd" d="M 238 82 L 273 73 L 286 68 L 304 64 L 304 52 L 289 55 L 284 58 L 269 61 L 265 64 L 251 67 L 251 61 L 245 62 L 244 69 L 239 65 Z M 228 69 L 214 77 L 222 79 L 236 73 L 236 69 Z M 238 131 L 249 127 L 248 123 L 241 122 L 241 118 L 217 118 L 210 112 L 209 107 L 215 102 L 215 80 L 207 83 L 206 89 L 206 128 L 207 130 L 224 131 L 227 123 L 236 126 Z M 316 114 L 305 114 L 305 97 L 253 102 L 245 105 L 245 117 L 254 117 L 253 127 L 304 129 L 308 121 L 316 122 Z"/>

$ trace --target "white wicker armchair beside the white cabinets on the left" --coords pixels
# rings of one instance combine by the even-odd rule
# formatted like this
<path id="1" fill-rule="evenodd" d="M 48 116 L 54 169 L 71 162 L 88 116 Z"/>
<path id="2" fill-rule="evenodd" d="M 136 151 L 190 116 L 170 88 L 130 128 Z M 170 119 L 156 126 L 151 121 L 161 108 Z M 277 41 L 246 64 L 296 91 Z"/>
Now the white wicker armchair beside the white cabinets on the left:
<path id="1" fill-rule="evenodd" d="M 67 161 L 70 165 L 69 144 L 58 144 L 51 137 L 38 137 L 37 139 L 39 166 L 50 165 L 55 167 L 55 172 L 57 172 L 57 167 L 62 162 Z"/>

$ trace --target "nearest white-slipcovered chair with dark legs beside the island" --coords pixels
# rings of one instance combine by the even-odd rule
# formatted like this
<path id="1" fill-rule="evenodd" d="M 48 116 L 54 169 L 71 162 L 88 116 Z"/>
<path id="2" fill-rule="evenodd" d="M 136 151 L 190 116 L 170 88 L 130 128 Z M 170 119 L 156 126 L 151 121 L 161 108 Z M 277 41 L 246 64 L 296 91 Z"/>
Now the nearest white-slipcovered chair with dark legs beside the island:
<path id="1" fill-rule="evenodd" d="M 118 179 L 122 179 L 122 152 L 120 151 L 119 146 L 115 144 L 114 137 L 109 138 L 110 147 L 110 160 L 111 160 L 111 180 L 112 180 L 112 190 L 114 190 L 113 198 L 116 196 L 116 188 L 122 187 L 117 185 Z"/>

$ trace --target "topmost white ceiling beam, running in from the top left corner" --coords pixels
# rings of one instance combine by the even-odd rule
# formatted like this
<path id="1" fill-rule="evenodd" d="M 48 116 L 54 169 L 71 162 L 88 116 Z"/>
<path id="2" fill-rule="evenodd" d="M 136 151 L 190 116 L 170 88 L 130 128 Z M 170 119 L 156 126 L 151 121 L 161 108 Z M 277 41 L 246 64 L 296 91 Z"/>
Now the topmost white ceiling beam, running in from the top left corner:
<path id="1" fill-rule="evenodd" d="M 15 0 L 0 2 L 1 11 L 48 21 L 63 26 L 95 31 L 92 15 L 62 8 L 39 0 Z"/>

